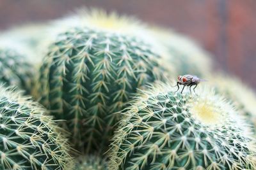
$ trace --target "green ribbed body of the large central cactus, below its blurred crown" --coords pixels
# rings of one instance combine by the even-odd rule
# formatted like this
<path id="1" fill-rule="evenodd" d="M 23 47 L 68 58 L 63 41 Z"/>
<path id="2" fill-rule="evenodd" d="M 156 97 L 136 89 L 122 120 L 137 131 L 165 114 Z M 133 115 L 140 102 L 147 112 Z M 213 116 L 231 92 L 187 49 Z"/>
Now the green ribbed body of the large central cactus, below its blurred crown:
<path id="1" fill-rule="evenodd" d="M 81 152 L 108 146 L 122 110 L 137 88 L 164 80 L 150 45 L 115 32 L 74 28 L 49 46 L 40 69 L 41 102 Z"/>

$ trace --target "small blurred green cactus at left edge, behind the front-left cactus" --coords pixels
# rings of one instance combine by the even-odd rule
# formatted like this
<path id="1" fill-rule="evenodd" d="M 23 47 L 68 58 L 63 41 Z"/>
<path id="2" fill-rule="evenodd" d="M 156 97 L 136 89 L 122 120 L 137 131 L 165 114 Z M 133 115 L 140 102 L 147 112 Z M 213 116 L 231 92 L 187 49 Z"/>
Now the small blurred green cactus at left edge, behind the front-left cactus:
<path id="1" fill-rule="evenodd" d="M 12 48 L 0 48 L 0 82 L 8 86 L 19 87 L 31 93 L 35 83 L 33 66 L 29 64 L 26 57 Z"/>

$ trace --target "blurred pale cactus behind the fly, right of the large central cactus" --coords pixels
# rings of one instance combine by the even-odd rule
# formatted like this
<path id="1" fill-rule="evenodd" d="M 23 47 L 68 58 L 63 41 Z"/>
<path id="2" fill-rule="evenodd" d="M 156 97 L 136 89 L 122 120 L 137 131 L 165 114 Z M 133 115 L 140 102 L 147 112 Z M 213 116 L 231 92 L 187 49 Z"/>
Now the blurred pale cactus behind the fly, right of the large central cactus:
<path id="1" fill-rule="evenodd" d="M 195 74 L 204 77 L 212 71 L 211 55 L 195 41 L 170 29 L 152 26 L 149 30 L 156 40 L 167 64 L 172 63 L 179 75 Z"/>

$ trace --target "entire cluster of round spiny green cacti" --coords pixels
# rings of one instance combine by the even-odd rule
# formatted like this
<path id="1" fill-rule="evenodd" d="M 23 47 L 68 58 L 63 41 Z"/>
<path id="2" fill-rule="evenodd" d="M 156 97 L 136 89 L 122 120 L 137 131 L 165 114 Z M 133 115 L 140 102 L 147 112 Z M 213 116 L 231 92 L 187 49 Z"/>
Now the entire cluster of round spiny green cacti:
<path id="1" fill-rule="evenodd" d="M 1 32 L 0 169 L 256 169 L 255 94 L 211 63 L 175 31 L 103 10 Z M 184 74 L 208 82 L 181 94 Z"/>

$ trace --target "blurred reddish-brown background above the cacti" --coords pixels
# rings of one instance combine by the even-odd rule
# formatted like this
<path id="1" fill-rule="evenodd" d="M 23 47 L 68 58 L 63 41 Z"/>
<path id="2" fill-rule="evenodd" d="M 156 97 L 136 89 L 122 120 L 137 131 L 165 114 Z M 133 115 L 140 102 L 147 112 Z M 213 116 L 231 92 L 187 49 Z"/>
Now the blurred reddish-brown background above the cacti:
<path id="1" fill-rule="evenodd" d="M 209 50 L 218 67 L 256 89 L 255 0 L 0 0 L 0 30 L 61 17 L 81 6 L 172 27 Z"/>

